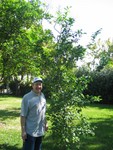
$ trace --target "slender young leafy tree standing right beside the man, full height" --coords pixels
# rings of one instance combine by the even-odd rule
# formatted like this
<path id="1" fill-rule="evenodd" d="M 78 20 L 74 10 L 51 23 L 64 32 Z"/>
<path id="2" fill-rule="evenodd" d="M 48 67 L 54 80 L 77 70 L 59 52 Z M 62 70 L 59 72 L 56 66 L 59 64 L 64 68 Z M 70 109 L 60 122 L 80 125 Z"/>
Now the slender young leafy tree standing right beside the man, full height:
<path id="1" fill-rule="evenodd" d="M 73 21 L 67 13 L 58 13 L 56 23 L 61 26 L 61 32 L 50 66 L 51 72 L 47 76 L 52 136 L 55 148 L 59 150 L 79 148 L 81 137 L 93 134 L 90 124 L 81 114 L 86 103 L 82 92 L 88 80 L 84 77 L 77 79 L 75 75 L 76 60 L 83 56 L 85 49 L 77 44 L 79 34 L 82 33 L 72 32 Z M 73 111 L 74 107 L 76 109 Z"/>

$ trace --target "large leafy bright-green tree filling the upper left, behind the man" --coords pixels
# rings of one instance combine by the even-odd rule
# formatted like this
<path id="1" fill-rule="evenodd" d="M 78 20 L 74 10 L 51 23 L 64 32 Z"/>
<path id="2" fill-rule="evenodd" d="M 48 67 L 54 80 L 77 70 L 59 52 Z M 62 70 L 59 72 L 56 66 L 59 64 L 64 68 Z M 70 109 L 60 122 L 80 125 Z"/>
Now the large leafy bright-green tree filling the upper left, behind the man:
<path id="1" fill-rule="evenodd" d="M 42 26 L 50 16 L 39 0 L 1 0 L 0 15 L 0 80 L 23 82 L 24 76 L 40 73 L 40 54 L 34 49 L 51 36 Z"/>

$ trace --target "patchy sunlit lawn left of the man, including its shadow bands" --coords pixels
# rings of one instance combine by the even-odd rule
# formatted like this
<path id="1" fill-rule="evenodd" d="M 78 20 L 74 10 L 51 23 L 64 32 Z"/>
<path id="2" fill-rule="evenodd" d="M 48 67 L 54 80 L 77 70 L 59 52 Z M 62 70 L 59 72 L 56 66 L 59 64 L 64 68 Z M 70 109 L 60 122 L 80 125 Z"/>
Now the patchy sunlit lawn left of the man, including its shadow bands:
<path id="1" fill-rule="evenodd" d="M 0 97 L 0 149 L 18 150 L 22 147 L 20 136 L 21 98 Z"/>

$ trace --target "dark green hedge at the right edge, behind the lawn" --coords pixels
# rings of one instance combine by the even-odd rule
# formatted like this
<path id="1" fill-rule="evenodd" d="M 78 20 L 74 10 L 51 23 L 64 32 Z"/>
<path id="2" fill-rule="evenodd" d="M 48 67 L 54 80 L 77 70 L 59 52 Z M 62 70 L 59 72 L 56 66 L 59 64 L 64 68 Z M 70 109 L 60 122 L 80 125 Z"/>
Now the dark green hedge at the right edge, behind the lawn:
<path id="1" fill-rule="evenodd" d="M 88 83 L 84 94 L 99 96 L 100 103 L 113 104 L 113 69 L 105 68 L 99 72 L 93 71 L 88 74 L 92 80 Z"/>

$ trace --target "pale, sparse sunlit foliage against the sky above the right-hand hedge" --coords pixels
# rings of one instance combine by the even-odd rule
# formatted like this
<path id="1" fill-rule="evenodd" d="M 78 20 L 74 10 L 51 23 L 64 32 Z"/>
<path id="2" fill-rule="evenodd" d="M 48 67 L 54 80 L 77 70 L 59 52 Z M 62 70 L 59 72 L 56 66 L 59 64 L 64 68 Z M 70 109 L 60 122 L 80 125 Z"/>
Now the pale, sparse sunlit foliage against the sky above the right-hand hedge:
<path id="1" fill-rule="evenodd" d="M 92 35 L 91 42 L 87 45 L 86 55 L 90 56 L 86 66 L 90 70 L 101 71 L 104 68 L 113 66 L 113 42 L 108 39 L 102 42 L 101 39 L 96 40 L 100 30 Z"/>

